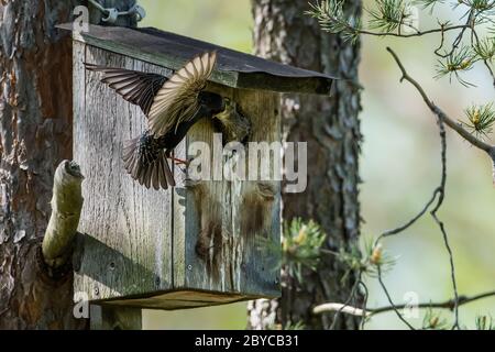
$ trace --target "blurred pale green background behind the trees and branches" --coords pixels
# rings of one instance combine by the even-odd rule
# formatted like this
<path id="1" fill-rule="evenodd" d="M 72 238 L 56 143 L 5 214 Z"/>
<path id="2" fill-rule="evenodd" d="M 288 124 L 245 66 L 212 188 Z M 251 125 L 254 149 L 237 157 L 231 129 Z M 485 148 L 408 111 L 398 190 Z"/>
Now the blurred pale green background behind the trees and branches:
<path id="1" fill-rule="evenodd" d="M 238 51 L 252 52 L 252 15 L 249 0 L 140 0 L 147 16 L 141 26 L 212 42 Z M 364 1 L 371 6 L 372 1 Z M 438 8 L 442 19 L 457 20 L 459 12 Z M 302 15 L 302 14 L 301 14 Z M 419 14 L 420 29 L 436 25 L 427 12 Z M 360 79 L 365 87 L 364 134 L 361 157 L 363 237 L 376 237 L 415 216 L 440 179 L 440 141 L 433 116 L 417 92 L 399 84 L 399 70 L 385 47 L 392 46 L 410 75 L 420 81 L 430 97 L 449 114 L 462 118 L 471 103 L 494 100 L 494 89 L 482 67 L 464 77 L 476 84 L 466 89 L 448 78 L 432 79 L 439 37 L 415 40 L 363 38 Z M 495 188 L 492 165 L 480 151 L 448 131 L 447 198 L 439 212 L 453 248 L 460 294 L 472 295 L 495 288 Z M 397 304 L 405 295 L 417 293 L 419 301 L 452 297 L 450 266 L 442 237 L 430 217 L 425 217 L 400 237 L 384 242 L 399 257 L 385 283 Z M 370 307 L 387 305 L 374 279 L 367 280 Z M 245 304 L 180 311 L 144 312 L 146 329 L 244 329 Z M 476 315 L 495 318 L 495 298 L 480 300 L 460 310 L 461 321 L 472 328 Z M 442 317 L 452 319 L 449 311 Z M 410 321 L 421 324 L 421 316 Z M 394 314 L 374 317 L 369 329 L 403 329 Z"/>

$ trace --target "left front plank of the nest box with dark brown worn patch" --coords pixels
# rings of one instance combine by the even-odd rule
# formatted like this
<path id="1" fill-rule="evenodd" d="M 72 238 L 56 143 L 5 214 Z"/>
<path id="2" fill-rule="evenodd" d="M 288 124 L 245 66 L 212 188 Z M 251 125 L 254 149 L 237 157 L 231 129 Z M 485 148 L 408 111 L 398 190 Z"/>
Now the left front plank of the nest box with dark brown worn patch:
<path id="1" fill-rule="evenodd" d="M 209 90 L 223 97 L 232 97 L 232 89 L 224 86 L 210 85 Z M 186 287 L 239 293 L 239 286 L 235 287 L 231 279 L 235 273 L 230 271 L 231 256 L 227 253 L 229 242 L 233 238 L 227 226 L 232 218 L 230 185 L 222 180 L 221 164 L 215 163 L 215 154 L 220 154 L 221 157 L 222 152 L 221 144 L 217 145 L 220 151 L 215 150 L 215 132 L 212 121 L 202 120 L 189 131 L 186 139 L 188 152 L 193 143 L 204 142 L 209 146 L 211 166 L 209 174 L 219 180 L 201 180 L 186 188 L 185 248 L 182 253 L 175 251 L 175 255 L 185 256 Z"/>

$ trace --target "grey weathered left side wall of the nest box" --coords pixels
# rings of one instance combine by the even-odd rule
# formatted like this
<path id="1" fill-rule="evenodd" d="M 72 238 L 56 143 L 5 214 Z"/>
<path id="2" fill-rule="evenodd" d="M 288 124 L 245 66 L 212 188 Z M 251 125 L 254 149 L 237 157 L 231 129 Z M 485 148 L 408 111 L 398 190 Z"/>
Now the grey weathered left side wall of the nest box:
<path id="1" fill-rule="evenodd" d="M 82 61 L 76 53 L 76 62 Z M 89 63 L 146 72 L 165 68 L 88 46 Z M 82 76 L 84 77 L 84 76 Z M 85 111 L 75 114 L 74 154 L 86 175 L 79 231 L 86 233 L 76 290 L 90 299 L 140 295 L 172 286 L 172 194 L 136 184 L 121 158 L 124 140 L 145 129 L 139 108 L 86 73 Z"/>

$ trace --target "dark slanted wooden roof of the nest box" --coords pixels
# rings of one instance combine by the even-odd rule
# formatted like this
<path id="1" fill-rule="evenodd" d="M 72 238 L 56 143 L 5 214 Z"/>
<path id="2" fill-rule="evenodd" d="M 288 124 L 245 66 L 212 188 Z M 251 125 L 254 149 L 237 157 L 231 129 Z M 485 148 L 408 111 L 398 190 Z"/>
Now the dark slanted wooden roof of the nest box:
<path id="1" fill-rule="evenodd" d="M 73 24 L 66 23 L 58 28 L 72 31 Z M 90 24 L 88 32 L 73 32 L 73 37 L 174 70 L 197 54 L 216 50 L 218 58 L 211 80 L 233 88 L 329 95 L 334 79 L 326 74 L 278 64 L 153 28 Z"/>

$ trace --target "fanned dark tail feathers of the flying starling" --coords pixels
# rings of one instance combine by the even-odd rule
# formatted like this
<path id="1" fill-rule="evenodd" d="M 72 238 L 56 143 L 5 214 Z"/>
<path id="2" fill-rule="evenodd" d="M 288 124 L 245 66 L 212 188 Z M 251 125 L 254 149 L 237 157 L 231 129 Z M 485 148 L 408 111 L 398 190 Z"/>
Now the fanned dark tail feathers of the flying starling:
<path id="1" fill-rule="evenodd" d="M 153 145 L 153 136 L 146 133 L 124 142 L 122 158 L 128 173 L 146 188 L 167 189 L 175 180 L 165 151 Z"/>

